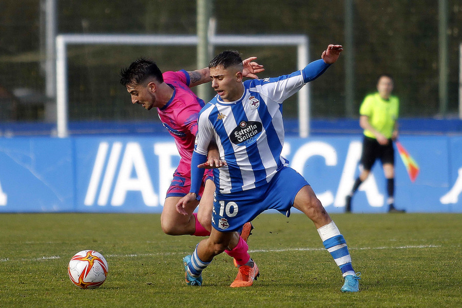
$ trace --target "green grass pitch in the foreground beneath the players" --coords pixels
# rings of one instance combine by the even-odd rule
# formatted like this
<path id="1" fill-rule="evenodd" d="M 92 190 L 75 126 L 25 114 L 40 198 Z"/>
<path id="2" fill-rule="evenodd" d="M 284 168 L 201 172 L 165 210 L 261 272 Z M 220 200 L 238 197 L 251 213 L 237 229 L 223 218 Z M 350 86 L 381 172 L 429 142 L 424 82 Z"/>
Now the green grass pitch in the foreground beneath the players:
<path id="1" fill-rule="evenodd" d="M 461 214 L 332 218 L 362 273 L 359 293 L 340 292 L 338 267 L 299 214 L 254 221 L 249 247 L 261 275 L 236 289 L 224 254 L 201 287 L 186 285 L 182 258 L 198 238 L 164 235 L 160 215 L 1 214 L 0 307 L 462 307 Z M 98 289 L 81 290 L 67 276 L 83 249 L 108 261 Z"/>

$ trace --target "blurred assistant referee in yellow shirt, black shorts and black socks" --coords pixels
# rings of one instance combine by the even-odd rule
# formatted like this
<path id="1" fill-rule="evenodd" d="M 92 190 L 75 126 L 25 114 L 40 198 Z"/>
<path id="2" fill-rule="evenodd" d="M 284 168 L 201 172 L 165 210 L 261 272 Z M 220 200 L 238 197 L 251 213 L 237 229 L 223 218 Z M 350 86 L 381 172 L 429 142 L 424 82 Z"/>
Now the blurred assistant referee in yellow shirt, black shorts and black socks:
<path id="1" fill-rule="evenodd" d="M 398 137 L 399 99 L 392 95 L 393 78 L 382 74 L 377 80 L 377 92 L 369 94 L 359 108 L 359 125 L 364 129 L 361 174 L 347 196 L 345 211 L 351 212 L 351 201 L 358 187 L 371 173 L 376 159 L 380 159 L 383 173 L 387 179 L 387 204 L 390 213 L 404 213 L 394 206 L 395 194 L 395 151 L 393 140 Z"/>

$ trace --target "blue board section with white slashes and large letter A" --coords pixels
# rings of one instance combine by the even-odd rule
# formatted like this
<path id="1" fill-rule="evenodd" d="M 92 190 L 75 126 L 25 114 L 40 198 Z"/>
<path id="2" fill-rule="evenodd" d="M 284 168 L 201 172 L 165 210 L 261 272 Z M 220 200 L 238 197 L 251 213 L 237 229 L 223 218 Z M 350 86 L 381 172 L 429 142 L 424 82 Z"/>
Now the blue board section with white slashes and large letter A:
<path id="1" fill-rule="evenodd" d="M 75 209 L 158 213 L 179 159 L 170 139 L 76 138 Z"/>

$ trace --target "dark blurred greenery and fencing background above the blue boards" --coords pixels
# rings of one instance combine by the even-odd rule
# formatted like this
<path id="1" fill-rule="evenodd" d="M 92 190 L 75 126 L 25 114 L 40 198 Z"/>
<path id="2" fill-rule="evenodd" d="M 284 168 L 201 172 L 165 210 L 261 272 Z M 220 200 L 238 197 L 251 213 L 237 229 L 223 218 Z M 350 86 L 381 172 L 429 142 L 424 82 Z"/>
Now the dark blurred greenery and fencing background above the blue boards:
<path id="1" fill-rule="evenodd" d="M 354 45 L 345 45 L 345 1 L 213 1 L 217 34 L 305 34 L 310 60 L 328 44 L 354 50 L 353 110 L 345 110 L 344 57 L 312 83 L 315 118 L 357 117 L 365 94 L 380 73 L 395 78 L 402 117 L 455 117 L 458 112 L 462 2 L 448 0 L 448 105 L 439 114 L 438 1 L 354 1 Z M 196 1 L 56 0 L 57 33 L 196 34 Z M 0 13 L 0 121 L 44 121 L 44 1 L 3 0 Z M 214 54 L 229 47 L 216 46 Z M 295 47 L 237 46 L 243 57 L 265 65 L 261 78 L 296 70 Z M 119 70 L 139 56 L 152 57 L 163 71 L 194 70 L 194 47 L 75 45 L 68 49 L 69 119 L 157 121 L 132 108 L 119 84 Z M 296 118 L 296 99 L 284 105 Z"/>

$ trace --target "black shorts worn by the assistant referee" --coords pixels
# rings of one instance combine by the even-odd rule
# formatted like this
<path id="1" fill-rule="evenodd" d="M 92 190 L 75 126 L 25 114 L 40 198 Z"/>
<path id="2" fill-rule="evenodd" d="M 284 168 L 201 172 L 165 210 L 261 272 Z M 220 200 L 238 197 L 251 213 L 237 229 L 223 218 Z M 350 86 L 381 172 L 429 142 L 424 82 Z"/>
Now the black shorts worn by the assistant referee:
<path id="1" fill-rule="evenodd" d="M 387 145 L 380 145 L 377 139 L 364 136 L 360 160 L 364 170 L 371 170 L 377 158 L 380 159 L 382 165 L 395 165 L 395 150 L 393 148 L 393 141 L 389 139 Z"/>

